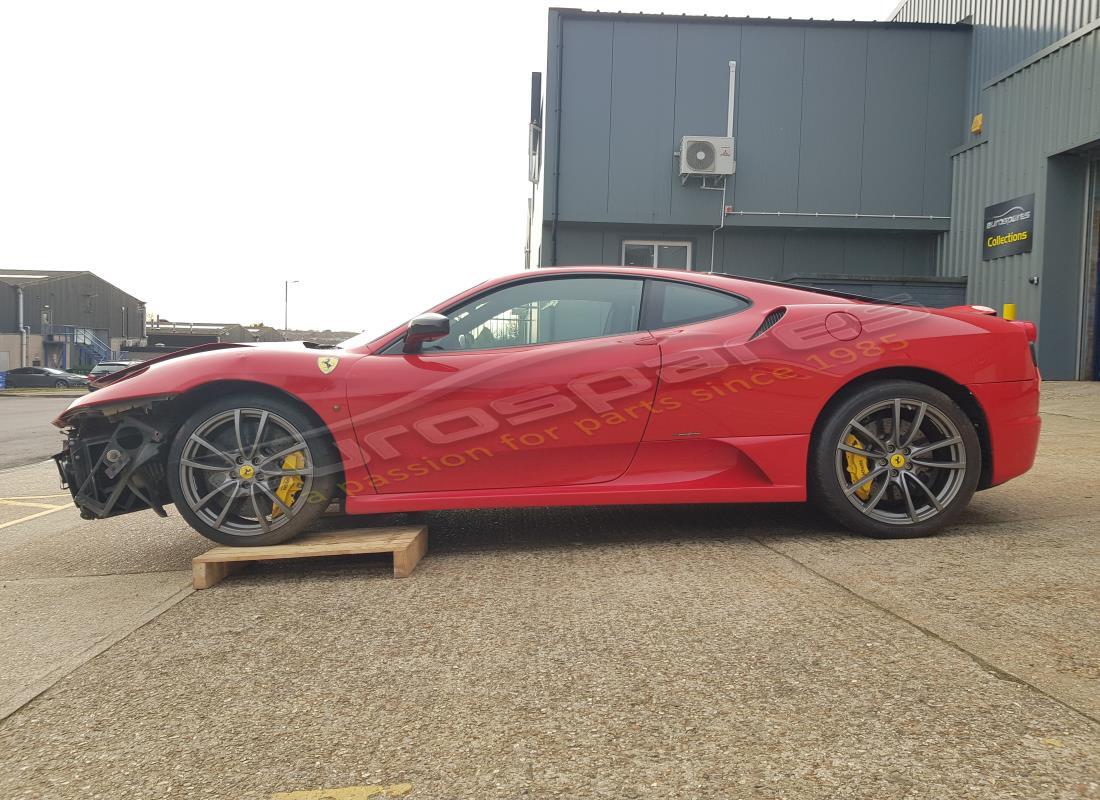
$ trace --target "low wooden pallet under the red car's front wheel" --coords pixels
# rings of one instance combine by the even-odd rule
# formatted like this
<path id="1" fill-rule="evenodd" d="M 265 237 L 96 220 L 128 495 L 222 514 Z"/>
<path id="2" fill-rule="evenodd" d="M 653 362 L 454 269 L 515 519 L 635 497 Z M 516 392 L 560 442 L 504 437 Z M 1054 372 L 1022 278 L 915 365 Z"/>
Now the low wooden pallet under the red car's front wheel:
<path id="1" fill-rule="evenodd" d="M 394 554 L 394 578 L 408 578 L 427 551 L 428 528 L 424 525 L 314 534 L 285 545 L 216 547 L 191 559 L 191 582 L 196 589 L 209 589 L 249 561 L 369 552 Z"/>

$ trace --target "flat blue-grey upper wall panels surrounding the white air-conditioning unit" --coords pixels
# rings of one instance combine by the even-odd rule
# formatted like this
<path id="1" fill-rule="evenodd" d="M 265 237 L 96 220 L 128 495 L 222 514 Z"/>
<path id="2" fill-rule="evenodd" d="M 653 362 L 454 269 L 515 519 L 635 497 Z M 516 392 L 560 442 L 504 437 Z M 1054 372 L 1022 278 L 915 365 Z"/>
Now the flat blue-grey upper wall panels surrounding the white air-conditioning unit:
<path id="1" fill-rule="evenodd" d="M 561 221 L 717 222 L 719 198 L 697 182 L 682 186 L 673 153 L 683 135 L 725 132 L 730 59 L 736 208 L 950 212 L 947 154 L 963 136 L 967 29 L 566 12 L 559 81 L 557 14 L 544 218 L 553 218 L 557 185 Z"/>

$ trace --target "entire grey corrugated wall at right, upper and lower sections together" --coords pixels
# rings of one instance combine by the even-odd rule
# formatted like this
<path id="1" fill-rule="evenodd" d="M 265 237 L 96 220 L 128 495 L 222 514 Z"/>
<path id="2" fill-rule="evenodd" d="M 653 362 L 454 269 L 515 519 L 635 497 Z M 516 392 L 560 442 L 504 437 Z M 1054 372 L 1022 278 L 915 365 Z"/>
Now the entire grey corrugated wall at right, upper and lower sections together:
<path id="1" fill-rule="evenodd" d="M 1100 154 L 1100 0 L 909 0 L 893 19 L 974 25 L 960 122 L 981 112 L 985 130 L 952 160 L 937 271 L 969 276 L 971 303 L 1015 303 L 1038 321 L 1044 374 L 1087 376 L 1080 353 L 1092 335 L 1081 309 L 1094 300 L 1082 297 L 1082 242 L 1088 158 Z M 1033 193 L 1032 252 L 982 261 L 986 207 Z"/>

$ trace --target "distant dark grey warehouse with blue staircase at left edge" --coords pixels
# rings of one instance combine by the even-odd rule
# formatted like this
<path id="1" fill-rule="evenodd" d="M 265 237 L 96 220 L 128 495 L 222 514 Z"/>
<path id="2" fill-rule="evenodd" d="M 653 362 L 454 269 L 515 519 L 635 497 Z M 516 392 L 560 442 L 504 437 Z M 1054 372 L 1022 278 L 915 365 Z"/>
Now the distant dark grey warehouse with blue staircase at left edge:
<path id="1" fill-rule="evenodd" d="M 0 269 L 0 372 L 90 369 L 145 338 L 145 304 L 90 272 Z"/>

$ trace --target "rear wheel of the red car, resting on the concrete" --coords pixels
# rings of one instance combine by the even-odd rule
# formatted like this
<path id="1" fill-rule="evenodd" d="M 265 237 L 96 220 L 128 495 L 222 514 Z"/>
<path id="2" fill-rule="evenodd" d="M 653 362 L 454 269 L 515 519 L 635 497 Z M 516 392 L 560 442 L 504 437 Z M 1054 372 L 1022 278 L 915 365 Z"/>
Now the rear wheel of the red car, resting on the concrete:
<path id="1" fill-rule="evenodd" d="M 842 525 L 883 539 L 930 536 L 974 496 L 981 443 L 943 392 L 881 381 L 826 413 L 812 445 L 810 486 Z"/>

